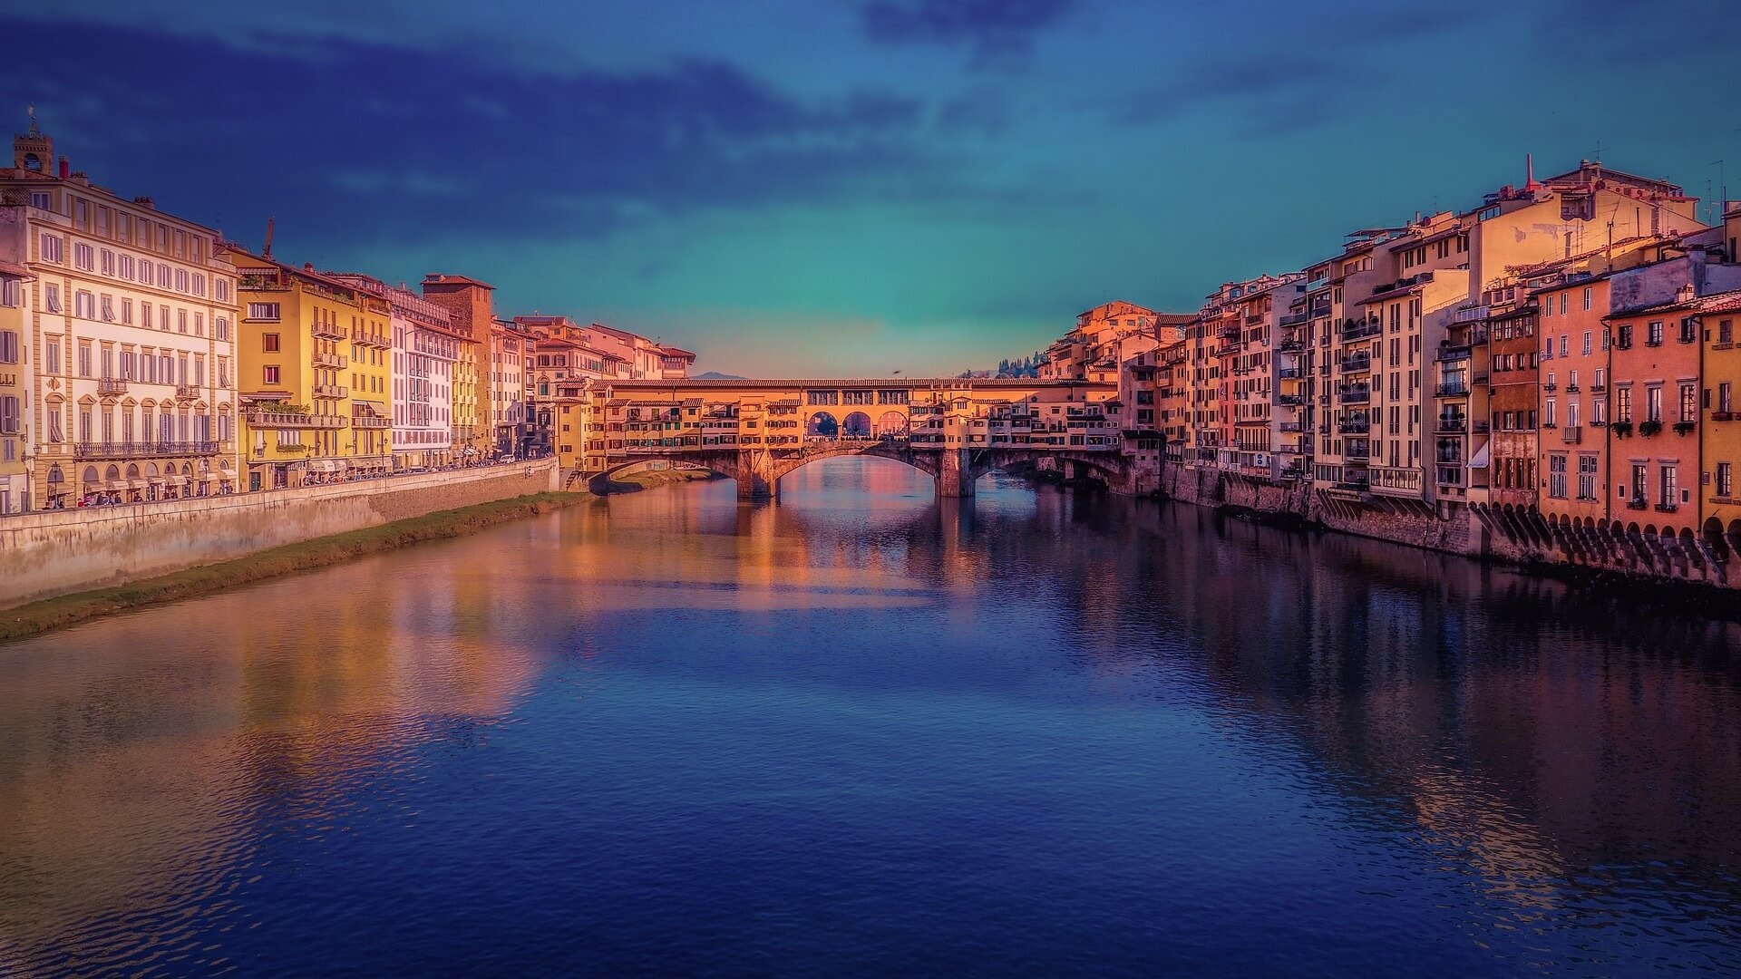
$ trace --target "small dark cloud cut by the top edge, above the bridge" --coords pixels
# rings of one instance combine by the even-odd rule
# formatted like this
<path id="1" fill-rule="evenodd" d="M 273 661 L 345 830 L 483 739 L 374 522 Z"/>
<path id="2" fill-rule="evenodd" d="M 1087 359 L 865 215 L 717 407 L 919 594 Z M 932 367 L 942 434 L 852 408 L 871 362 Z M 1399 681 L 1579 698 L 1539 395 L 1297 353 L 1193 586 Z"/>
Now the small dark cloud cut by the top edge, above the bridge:
<path id="1" fill-rule="evenodd" d="M 865 37 L 879 44 L 963 45 L 977 56 L 1027 51 L 1074 0 L 872 0 L 858 9 Z"/>

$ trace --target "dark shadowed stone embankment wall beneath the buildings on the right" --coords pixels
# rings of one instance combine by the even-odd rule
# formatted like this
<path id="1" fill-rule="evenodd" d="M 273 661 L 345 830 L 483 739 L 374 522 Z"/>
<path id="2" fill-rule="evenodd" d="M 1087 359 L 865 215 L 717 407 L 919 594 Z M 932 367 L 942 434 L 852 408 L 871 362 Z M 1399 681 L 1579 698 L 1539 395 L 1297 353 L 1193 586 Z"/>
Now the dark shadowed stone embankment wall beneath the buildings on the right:
<path id="1" fill-rule="evenodd" d="M 1675 537 L 1654 533 L 1649 524 L 1551 523 L 1532 509 L 1462 503 L 1440 509 L 1381 495 L 1353 498 L 1182 465 L 1163 470 L 1161 496 L 1468 557 L 1741 587 L 1741 540 L 1729 535 Z"/>

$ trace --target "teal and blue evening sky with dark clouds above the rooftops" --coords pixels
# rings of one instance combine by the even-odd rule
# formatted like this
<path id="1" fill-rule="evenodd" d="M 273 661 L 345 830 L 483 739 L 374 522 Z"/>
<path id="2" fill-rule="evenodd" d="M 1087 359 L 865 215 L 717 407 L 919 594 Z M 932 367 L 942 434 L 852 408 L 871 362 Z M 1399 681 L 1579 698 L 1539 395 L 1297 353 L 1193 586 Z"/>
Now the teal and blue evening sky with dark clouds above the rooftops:
<path id="1" fill-rule="evenodd" d="M 1525 153 L 1741 197 L 1734 0 L 61 0 L 0 30 L 0 111 L 125 197 L 747 376 L 1194 310 Z"/>

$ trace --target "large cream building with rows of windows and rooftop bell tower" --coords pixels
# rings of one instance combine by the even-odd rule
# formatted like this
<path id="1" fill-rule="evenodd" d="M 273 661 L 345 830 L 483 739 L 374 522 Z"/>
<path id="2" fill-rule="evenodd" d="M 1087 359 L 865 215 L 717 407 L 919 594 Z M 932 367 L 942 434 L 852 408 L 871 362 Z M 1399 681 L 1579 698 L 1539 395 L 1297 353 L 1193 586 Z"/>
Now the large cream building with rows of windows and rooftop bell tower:
<path id="1" fill-rule="evenodd" d="M 218 232 L 92 183 L 35 120 L 0 192 L 23 206 L 0 261 L 35 279 L 19 287 L 31 503 L 237 490 L 237 289 Z"/>

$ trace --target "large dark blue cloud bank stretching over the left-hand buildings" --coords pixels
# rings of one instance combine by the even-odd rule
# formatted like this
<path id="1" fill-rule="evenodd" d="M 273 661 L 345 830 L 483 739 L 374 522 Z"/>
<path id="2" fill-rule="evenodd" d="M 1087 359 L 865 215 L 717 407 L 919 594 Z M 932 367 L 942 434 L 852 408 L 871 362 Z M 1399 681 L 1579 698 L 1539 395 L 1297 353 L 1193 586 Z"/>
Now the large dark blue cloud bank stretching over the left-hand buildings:
<path id="1" fill-rule="evenodd" d="M 0 103 L 35 103 L 97 183 L 239 237 L 268 214 L 286 242 L 592 237 L 705 207 L 956 190 L 918 138 L 918 99 L 797 99 L 721 61 L 524 73 L 333 37 L 77 37 L 10 54 Z"/>

